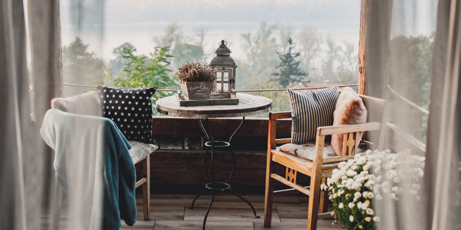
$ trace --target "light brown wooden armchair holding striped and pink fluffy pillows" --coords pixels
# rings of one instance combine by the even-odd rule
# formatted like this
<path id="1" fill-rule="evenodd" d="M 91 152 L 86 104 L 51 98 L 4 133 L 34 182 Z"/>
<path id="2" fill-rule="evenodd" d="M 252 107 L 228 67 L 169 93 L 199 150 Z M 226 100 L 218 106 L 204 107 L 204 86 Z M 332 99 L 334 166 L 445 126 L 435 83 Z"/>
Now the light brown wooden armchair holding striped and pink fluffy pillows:
<path id="1" fill-rule="evenodd" d="M 362 96 L 365 107 L 368 111 L 368 122 L 357 125 L 325 126 L 317 128 L 317 139 L 315 147 L 315 158 L 309 160 L 294 154 L 280 151 L 276 145 L 290 143 L 291 139 L 276 139 L 276 125 L 278 119 L 291 118 L 291 111 L 269 113 L 269 133 L 267 147 L 267 169 L 266 169 L 266 191 L 264 203 L 264 226 L 270 227 L 272 217 L 273 197 L 292 193 L 304 193 L 309 196 L 307 229 L 317 229 L 317 220 L 331 217 L 327 212 L 328 192 L 320 189 L 321 183 L 325 183 L 330 177 L 333 169 L 338 167 L 338 163 L 352 159 L 352 150 L 358 152 L 360 140 L 355 140 L 355 136 L 362 131 L 375 131 L 379 135 L 379 143 L 373 145 L 374 148 L 382 150 L 384 145 L 384 132 L 386 124 L 387 102 L 382 99 Z M 373 119 L 370 119 L 370 110 L 373 110 Z M 374 120 L 374 122 L 370 122 Z M 344 134 L 343 156 L 332 156 L 323 158 L 325 136 L 331 134 Z M 280 176 L 274 173 L 274 163 L 286 166 L 286 175 Z M 310 176 L 310 186 L 303 187 L 297 185 L 296 174 L 303 173 Z M 278 180 L 292 189 L 274 191 L 274 180 Z M 321 213 L 319 213 L 319 211 Z"/>

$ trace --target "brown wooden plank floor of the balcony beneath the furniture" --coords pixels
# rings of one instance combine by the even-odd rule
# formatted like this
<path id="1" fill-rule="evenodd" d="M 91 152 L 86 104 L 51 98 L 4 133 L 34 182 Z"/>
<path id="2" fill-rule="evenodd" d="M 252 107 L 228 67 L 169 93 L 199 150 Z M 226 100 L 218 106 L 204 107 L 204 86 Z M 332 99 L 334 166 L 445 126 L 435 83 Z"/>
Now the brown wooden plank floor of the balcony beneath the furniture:
<path id="1" fill-rule="evenodd" d="M 143 220 L 142 196 L 136 197 L 137 220 L 134 226 L 126 225 L 122 220 L 123 230 L 144 230 L 144 229 L 202 229 L 203 217 L 208 208 L 211 195 L 203 195 L 197 199 L 194 210 L 189 207 L 195 197 L 194 191 L 188 188 L 179 190 L 180 194 L 172 194 L 170 191 L 151 194 L 151 220 Z M 241 191 L 241 190 L 237 190 Z M 307 202 L 308 196 L 292 194 L 274 197 L 274 211 L 272 227 L 265 228 L 264 220 L 264 193 L 241 193 L 250 201 L 256 209 L 257 215 L 253 216 L 249 206 L 238 197 L 230 193 L 218 193 L 206 222 L 206 229 L 307 229 Z M 332 209 L 332 206 L 329 206 Z M 51 216 L 51 215 L 50 215 Z M 68 224 L 68 213 L 63 206 L 59 221 L 60 228 Z M 45 225 L 51 225 L 51 218 L 44 220 Z M 319 230 L 343 229 L 339 225 L 332 225 L 333 219 L 318 221 Z M 50 228 L 43 228 L 50 229 Z"/>

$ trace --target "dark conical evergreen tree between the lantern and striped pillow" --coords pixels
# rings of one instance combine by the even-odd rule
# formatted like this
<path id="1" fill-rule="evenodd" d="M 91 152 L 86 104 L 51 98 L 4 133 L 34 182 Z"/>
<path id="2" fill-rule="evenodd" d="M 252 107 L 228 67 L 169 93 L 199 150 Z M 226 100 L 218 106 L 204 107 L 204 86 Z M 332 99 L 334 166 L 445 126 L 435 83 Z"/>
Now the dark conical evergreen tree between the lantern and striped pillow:
<path id="1" fill-rule="evenodd" d="M 274 80 L 277 80 L 284 88 L 292 83 L 300 82 L 302 77 L 308 75 L 308 73 L 301 70 L 299 67 L 301 61 L 296 60 L 301 55 L 301 52 L 292 53 L 296 44 L 291 37 L 288 38 L 288 44 L 289 47 L 286 53 L 281 54 L 277 52 L 281 61 L 280 65 L 277 66 L 277 68 L 280 68 L 280 73 L 273 74 L 274 76 L 278 76 L 278 78 Z"/>

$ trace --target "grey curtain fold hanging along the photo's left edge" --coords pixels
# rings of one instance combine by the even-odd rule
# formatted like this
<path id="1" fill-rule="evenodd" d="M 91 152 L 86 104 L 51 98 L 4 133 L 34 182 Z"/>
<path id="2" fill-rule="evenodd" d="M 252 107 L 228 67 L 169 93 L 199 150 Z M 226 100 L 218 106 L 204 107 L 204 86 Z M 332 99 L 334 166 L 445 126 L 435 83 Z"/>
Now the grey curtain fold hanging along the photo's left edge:
<path id="1" fill-rule="evenodd" d="M 22 1 L 0 1 L 0 229 L 27 229 L 25 155 L 33 146 L 30 133 L 26 30 Z M 38 153 L 40 154 L 40 153 Z M 37 193 L 35 193 L 37 195 Z M 36 202 L 36 201 L 35 201 Z M 34 202 L 34 203 L 35 203 Z M 36 213 L 36 212 L 33 212 Z M 29 215 L 32 214 L 32 215 Z M 38 220 L 37 218 L 34 218 Z M 39 222 L 35 222 L 39 225 Z"/>

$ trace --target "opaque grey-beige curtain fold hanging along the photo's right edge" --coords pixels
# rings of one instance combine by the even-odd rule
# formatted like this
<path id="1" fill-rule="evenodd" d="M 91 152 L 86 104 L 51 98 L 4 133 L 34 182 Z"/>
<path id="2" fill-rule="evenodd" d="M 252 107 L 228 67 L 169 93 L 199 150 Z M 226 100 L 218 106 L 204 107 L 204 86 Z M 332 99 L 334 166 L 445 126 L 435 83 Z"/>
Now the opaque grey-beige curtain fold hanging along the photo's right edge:
<path id="1" fill-rule="evenodd" d="M 426 229 L 456 229 L 461 224 L 461 1 L 440 0 L 427 136 Z"/>

